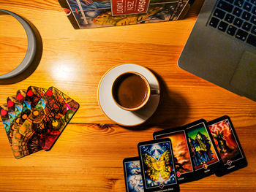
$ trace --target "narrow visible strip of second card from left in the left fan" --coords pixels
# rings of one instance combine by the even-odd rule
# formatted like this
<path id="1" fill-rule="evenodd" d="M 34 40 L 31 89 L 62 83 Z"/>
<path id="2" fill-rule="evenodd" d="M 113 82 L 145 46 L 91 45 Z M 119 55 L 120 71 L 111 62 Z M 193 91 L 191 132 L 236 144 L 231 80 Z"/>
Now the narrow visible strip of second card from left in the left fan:
<path id="1" fill-rule="evenodd" d="M 16 103 L 16 96 L 8 96 L 7 98 L 7 110 L 9 115 L 9 122 L 10 122 L 10 137 L 13 137 L 14 131 L 14 119 L 15 119 L 15 103 Z"/>

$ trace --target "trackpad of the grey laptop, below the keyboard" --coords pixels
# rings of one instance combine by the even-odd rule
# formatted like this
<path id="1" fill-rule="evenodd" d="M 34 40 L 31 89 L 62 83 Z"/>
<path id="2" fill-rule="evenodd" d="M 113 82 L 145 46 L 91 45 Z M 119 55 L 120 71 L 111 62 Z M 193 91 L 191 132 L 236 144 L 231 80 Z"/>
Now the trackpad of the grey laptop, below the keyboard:
<path id="1" fill-rule="evenodd" d="M 230 85 L 246 96 L 256 99 L 256 55 L 245 51 Z"/>

